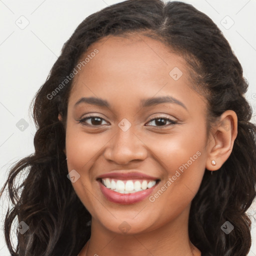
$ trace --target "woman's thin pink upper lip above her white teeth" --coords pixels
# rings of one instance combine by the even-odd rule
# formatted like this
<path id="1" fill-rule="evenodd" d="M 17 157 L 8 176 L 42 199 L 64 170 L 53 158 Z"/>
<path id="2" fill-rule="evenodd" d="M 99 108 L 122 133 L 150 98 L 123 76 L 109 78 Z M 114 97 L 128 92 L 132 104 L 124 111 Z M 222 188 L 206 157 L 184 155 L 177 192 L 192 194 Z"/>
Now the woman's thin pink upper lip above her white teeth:
<path id="1" fill-rule="evenodd" d="M 149 176 L 145 173 L 139 171 L 128 171 L 127 170 L 115 170 L 112 172 L 101 174 L 97 177 L 99 178 L 116 178 L 116 179 L 159 179 L 157 177 Z"/>

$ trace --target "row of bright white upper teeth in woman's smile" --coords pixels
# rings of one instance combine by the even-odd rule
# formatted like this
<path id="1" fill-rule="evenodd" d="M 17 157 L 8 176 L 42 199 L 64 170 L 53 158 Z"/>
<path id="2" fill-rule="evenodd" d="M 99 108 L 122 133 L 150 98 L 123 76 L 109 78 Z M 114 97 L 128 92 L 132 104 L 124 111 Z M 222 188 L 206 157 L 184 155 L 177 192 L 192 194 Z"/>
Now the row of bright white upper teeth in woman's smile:
<path id="1" fill-rule="evenodd" d="M 145 190 L 147 188 L 150 188 L 152 186 L 155 185 L 156 180 L 142 180 L 142 182 L 140 182 L 139 180 L 135 180 L 135 182 L 133 182 L 132 180 L 114 180 L 111 178 L 102 178 L 102 183 L 104 184 L 104 186 L 106 188 L 109 188 L 111 190 L 114 190 L 115 192 L 119 192 L 119 193 L 134 193 L 137 191 L 142 191 Z"/>

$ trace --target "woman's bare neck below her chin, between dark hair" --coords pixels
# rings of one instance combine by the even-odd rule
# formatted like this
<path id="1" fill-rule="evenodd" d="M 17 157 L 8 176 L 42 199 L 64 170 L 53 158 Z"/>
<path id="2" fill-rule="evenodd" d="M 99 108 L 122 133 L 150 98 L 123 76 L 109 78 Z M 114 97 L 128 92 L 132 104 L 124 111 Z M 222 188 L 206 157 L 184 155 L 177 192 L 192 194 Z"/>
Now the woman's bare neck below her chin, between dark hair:
<path id="1" fill-rule="evenodd" d="M 83 255 L 200 256 L 188 237 L 188 213 L 157 229 L 135 234 L 111 232 L 92 218 L 90 240 L 84 247 L 87 254 Z"/>

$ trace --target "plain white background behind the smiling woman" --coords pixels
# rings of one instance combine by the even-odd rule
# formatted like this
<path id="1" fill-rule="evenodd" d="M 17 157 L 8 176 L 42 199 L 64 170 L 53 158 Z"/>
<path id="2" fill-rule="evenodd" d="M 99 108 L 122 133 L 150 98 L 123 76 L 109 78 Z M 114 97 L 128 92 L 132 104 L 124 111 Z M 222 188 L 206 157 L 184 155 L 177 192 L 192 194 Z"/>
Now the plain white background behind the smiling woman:
<path id="1" fill-rule="evenodd" d="M 223 31 L 249 82 L 246 97 L 255 113 L 256 0 L 183 1 L 207 14 Z M 35 127 L 28 107 L 60 54 L 63 43 L 86 16 L 117 2 L 120 0 L 0 0 L 1 187 L 13 161 L 34 151 Z M 16 24 L 21 26 L 25 22 L 29 24 L 24 29 Z M 234 24 L 226 29 L 232 22 Z M 21 118 L 28 123 L 23 131 L 16 127 Z M 252 121 L 255 122 L 254 117 Z M 1 200 L 0 206 L 3 218 L 7 208 L 6 199 Z M 256 204 L 249 210 L 255 216 Z M 253 218 L 252 225 L 253 245 L 249 256 L 256 255 L 256 225 Z M 16 242 L 15 239 L 13 242 Z M 0 256 L 6 255 L 9 253 L 0 230 Z"/>

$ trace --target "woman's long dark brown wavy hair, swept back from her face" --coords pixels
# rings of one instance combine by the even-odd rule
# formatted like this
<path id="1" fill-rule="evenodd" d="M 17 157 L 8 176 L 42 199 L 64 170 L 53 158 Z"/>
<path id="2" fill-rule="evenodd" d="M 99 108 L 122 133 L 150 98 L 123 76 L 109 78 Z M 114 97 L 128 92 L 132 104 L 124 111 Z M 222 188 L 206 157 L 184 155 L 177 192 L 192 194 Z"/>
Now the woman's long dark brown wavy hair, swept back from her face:
<path id="1" fill-rule="evenodd" d="M 213 175 L 204 172 L 191 202 L 188 232 L 202 253 L 247 255 L 251 222 L 246 210 L 256 195 L 256 126 L 250 122 L 252 108 L 244 97 L 248 82 L 228 41 L 207 15 L 187 3 L 161 0 L 126 0 L 103 8 L 86 17 L 64 43 L 33 98 L 35 151 L 10 168 L 1 190 L 2 195 L 7 185 L 13 204 L 4 219 L 11 255 L 77 255 L 89 239 L 91 215 L 67 178 L 63 152 L 73 78 L 51 99 L 47 95 L 72 72 L 90 44 L 107 35 L 133 32 L 160 40 L 186 60 L 195 87 L 205 94 L 209 125 L 225 110 L 235 111 L 238 133 L 233 149 Z M 16 187 L 19 173 L 26 177 Z M 29 229 L 16 232 L 18 243 L 13 248 L 10 229 L 16 216 Z M 225 221 L 234 226 L 228 235 L 220 228 Z"/>

